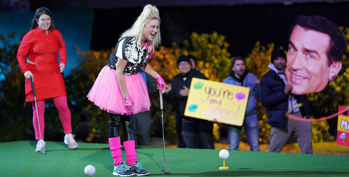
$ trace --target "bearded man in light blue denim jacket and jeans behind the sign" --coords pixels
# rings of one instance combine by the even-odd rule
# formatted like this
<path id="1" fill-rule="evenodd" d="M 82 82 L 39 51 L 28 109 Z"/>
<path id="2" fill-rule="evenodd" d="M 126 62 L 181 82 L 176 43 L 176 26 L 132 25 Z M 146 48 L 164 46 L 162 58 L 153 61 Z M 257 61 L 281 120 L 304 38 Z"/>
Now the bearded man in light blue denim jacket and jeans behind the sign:
<path id="1" fill-rule="evenodd" d="M 254 74 L 247 72 L 245 59 L 243 57 L 235 57 L 234 60 L 231 62 L 231 66 L 233 71 L 227 78 L 223 80 L 223 83 L 250 88 L 244 123 L 242 126 L 245 126 L 247 141 L 250 145 L 251 151 L 260 151 L 258 140 L 258 120 L 255 110 L 257 106 L 255 97 L 258 97 L 259 80 Z M 229 150 L 239 149 L 240 133 L 242 126 L 228 125 Z"/>

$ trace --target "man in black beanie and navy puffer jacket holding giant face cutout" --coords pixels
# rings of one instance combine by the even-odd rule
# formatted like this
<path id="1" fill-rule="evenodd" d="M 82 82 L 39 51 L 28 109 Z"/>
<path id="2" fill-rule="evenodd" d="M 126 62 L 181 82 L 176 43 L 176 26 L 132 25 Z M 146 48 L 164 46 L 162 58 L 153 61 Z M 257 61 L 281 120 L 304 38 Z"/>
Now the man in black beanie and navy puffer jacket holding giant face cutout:
<path id="1" fill-rule="evenodd" d="M 310 103 L 307 95 L 291 94 L 292 86 L 285 76 L 286 54 L 282 49 L 272 51 L 270 71 L 260 82 L 259 100 L 267 108 L 270 129 L 269 152 L 280 152 L 291 134 L 297 138 L 302 154 L 312 154 L 312 123 L 288 119 L 285 113 L 307 118 L 310 114 Z M 298 103 L 303 106 L 297 107 Z"/>

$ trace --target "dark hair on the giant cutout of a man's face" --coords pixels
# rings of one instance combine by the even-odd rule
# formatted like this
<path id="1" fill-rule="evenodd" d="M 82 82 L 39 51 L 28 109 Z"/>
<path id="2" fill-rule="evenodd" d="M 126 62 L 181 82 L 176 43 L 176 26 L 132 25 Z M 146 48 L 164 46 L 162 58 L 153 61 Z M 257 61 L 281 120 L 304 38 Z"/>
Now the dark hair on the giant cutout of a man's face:
<path id="1" fill-rule="evenodd" d="M 315 30 L 328 34 L 328 36 L 331 38 L 326 51 L 328 66 L 330 66 L 334 61 L 342 61 L 343 54 L 347 48 L 347 42 L 343 36 L 343 33 L 341 30 L 339 30 L 338 26 L 334 22 L 322 16 L 299 15 L 295 18 L 294 25 L 290 28 L 288 40 L 290 40 L 291 33 L 296 25 L 308 30 Z"/>

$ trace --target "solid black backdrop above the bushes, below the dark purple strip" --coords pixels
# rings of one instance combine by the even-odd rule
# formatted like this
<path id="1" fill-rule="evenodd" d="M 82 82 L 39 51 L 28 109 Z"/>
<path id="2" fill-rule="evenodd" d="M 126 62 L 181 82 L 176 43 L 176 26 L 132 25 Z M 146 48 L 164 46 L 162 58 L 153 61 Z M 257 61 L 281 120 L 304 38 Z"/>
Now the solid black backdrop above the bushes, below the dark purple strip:
<path id="1" fill-rule="evenodd" d="M 246 56 L 256 41 L 287 49 L 288 31 L 297 15 L 321 15 L 339 26 L 349 27 L 349 2 L 263 4 L 236 6 L 158 7 L 162 45 L 181 44 L 190 33 L 225 35 L 233 56 Z M 94 9 L 91 49 L 114 47 L 120 34 L 131 27 L 142 7 Z"/>

